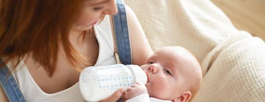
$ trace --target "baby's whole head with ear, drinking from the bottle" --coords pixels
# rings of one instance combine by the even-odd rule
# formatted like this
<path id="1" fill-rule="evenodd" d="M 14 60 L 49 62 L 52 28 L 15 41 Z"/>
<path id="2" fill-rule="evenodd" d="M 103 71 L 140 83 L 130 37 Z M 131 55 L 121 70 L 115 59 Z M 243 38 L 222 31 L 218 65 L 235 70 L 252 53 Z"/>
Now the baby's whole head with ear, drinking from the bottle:
<path id="1" fill-rule="evenodd" d="M 199 90 L 202 70 L 196 58 L 182 47 L 155 51 L 141 68 L 147 73 L 150 97 L 188 102 Z"/>

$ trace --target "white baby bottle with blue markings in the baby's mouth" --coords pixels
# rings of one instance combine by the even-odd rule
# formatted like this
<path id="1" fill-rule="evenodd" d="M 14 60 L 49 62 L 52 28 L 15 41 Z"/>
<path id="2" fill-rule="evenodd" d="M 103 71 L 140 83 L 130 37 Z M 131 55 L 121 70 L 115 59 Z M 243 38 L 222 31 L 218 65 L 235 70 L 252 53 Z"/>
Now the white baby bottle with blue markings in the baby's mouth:
<path id="1" fill-rule="evenodd" d="M 81 94 L 88 102 L 106 99 L 119 88 L 126 90 L 135 82 L 147 83 L 146 73 L 137 65 L 87 67 L 79 77 Z"/>

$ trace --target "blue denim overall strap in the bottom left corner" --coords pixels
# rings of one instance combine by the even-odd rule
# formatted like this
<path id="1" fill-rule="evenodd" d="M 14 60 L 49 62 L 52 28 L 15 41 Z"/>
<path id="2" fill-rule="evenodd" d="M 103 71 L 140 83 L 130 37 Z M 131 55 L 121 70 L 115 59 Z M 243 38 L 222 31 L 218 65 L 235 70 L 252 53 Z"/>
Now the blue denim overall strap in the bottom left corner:
<path id="1" fill-rule="evenodd" d="M 0 64 L 2 63 L 3 60 L 0 58 Z M 0 85 L 2 86 L 9 102 L 26 102 L 17 82 L 6 65 L 0 68 Z"/>

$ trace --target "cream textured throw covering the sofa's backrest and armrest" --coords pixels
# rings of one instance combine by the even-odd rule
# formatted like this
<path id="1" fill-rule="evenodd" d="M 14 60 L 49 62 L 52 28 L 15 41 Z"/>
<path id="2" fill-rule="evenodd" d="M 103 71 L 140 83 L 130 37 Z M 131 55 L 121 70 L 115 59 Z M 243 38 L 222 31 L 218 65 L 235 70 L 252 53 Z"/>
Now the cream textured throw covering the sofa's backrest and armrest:
<path id="1" fill-rule="evenodd" d="M 151 48 L 182 46 L 201 62 L 192 102 L 264 102 L 265 43 L 237 30 L 209 0 L 125 0 Z"/>

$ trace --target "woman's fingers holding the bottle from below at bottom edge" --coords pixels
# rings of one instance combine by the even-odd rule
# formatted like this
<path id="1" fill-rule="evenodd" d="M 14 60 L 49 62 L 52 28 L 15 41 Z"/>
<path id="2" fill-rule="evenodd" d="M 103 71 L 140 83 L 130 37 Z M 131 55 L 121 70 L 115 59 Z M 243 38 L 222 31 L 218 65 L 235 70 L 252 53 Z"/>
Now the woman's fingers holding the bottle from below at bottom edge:
<path id="1" fill-rule="evenodd" d="M 116 102 L 121 98 L 121 96 L 123 96 L 124 92 L 125 90 L 120 88 L 116 92 L 114 92 L 110 97 L 100 102 Z"/>

